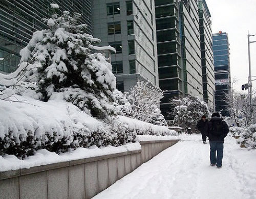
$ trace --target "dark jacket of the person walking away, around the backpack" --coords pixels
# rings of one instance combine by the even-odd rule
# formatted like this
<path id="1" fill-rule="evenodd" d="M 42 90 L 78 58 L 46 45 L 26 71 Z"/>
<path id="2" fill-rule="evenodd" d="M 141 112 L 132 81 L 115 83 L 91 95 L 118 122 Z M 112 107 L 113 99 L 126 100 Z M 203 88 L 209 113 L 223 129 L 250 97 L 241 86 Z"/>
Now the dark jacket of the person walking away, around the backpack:
<path id="1" fill-rule="evenodd" d="M 224 137 L 227 136 L 229 129 L 227 126 L 227 123 L 225 121 L 222 121 L 223 123 L 223 134 L 222 135 L 212 135 L 210 133 L 211 126 L 214 125 L 214 121 L 222 121 L 220 117 L 212 117 L 210 121 L 207 122 L 206 128 L 205 128 L 205 135 L 209 138 L 209 141 L 224 141 Z"/>

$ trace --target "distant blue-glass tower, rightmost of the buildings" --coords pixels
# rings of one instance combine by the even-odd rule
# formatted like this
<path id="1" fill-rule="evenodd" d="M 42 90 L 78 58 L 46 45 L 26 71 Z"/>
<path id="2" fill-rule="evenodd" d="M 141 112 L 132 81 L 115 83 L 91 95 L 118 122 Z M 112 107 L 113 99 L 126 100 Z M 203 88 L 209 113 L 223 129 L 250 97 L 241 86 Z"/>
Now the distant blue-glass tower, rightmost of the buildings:
<path id="1" fill-rule="evenodd" d="M 229 93 L 231 85 L 228 34 L 220 31 L 219 33 L 212 34 L 212 40 L 215 68 L 216 111 L 220 111 L 223 116 L 228 116 L 228 105 L 224 100 L 225 93 Z"/>

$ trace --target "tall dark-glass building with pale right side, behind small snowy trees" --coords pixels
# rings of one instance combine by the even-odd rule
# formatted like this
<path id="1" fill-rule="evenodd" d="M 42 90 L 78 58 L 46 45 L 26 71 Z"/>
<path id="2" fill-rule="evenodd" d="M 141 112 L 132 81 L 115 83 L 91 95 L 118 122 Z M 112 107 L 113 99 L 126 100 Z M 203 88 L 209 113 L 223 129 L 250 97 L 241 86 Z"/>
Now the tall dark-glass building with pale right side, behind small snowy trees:
<path id="1" fill-rule="evenodd" d="M 199 12 L 196 0 L 155 1 L 159 86 L 165 119 L 173 97 L 203 99 Z"/>

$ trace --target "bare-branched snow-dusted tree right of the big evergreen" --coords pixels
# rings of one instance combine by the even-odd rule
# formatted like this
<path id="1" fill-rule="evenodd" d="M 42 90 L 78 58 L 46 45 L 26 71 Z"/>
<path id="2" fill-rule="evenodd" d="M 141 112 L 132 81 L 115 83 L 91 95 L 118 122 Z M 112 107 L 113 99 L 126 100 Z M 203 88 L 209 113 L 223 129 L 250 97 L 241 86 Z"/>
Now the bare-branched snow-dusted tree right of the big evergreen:
<path id="1" fill-rule="evenodd" d="M 148 84 L 148 82 L 138 80 L 137 84 L 125 93 L 132 107 L 131 117 L 154 125 L 167 126 L 158 108 L 163 93 L 159 88 Z"/>

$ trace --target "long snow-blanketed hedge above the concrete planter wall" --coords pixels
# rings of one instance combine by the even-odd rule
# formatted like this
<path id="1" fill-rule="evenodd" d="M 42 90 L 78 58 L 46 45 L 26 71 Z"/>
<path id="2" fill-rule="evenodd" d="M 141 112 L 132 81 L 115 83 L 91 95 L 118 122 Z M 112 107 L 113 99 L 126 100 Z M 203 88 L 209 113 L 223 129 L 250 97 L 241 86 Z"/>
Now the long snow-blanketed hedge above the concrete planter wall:
<path id="1" fill-rule="evenodd" d="M 69 102 L 14 95 L 0 104 L 0 155 L 24 159 L 42 148 L 59 154 L 77 147 L 131 143 L 137 134 L 176 135 L 166 127 L 119 117 L 105 123 Z"/>

